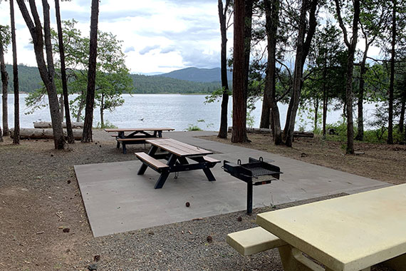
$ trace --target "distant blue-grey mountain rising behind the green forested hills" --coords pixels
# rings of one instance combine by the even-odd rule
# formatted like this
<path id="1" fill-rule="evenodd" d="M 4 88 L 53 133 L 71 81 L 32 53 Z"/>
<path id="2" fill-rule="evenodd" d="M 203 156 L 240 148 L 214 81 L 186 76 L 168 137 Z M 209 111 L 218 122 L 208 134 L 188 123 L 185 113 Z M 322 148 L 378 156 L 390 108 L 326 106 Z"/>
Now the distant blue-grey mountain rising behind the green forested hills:
<path id="1" fill-rule="evenodd" d="M 193 82 L 221 82 L 222 73 L 220 68 L 182 68 L 181 70 L 163 73 L 158 76 L 170 77 L 179 80 Z M 227 71 L 228 80 L 232 80 L 231 71 Z"/>

